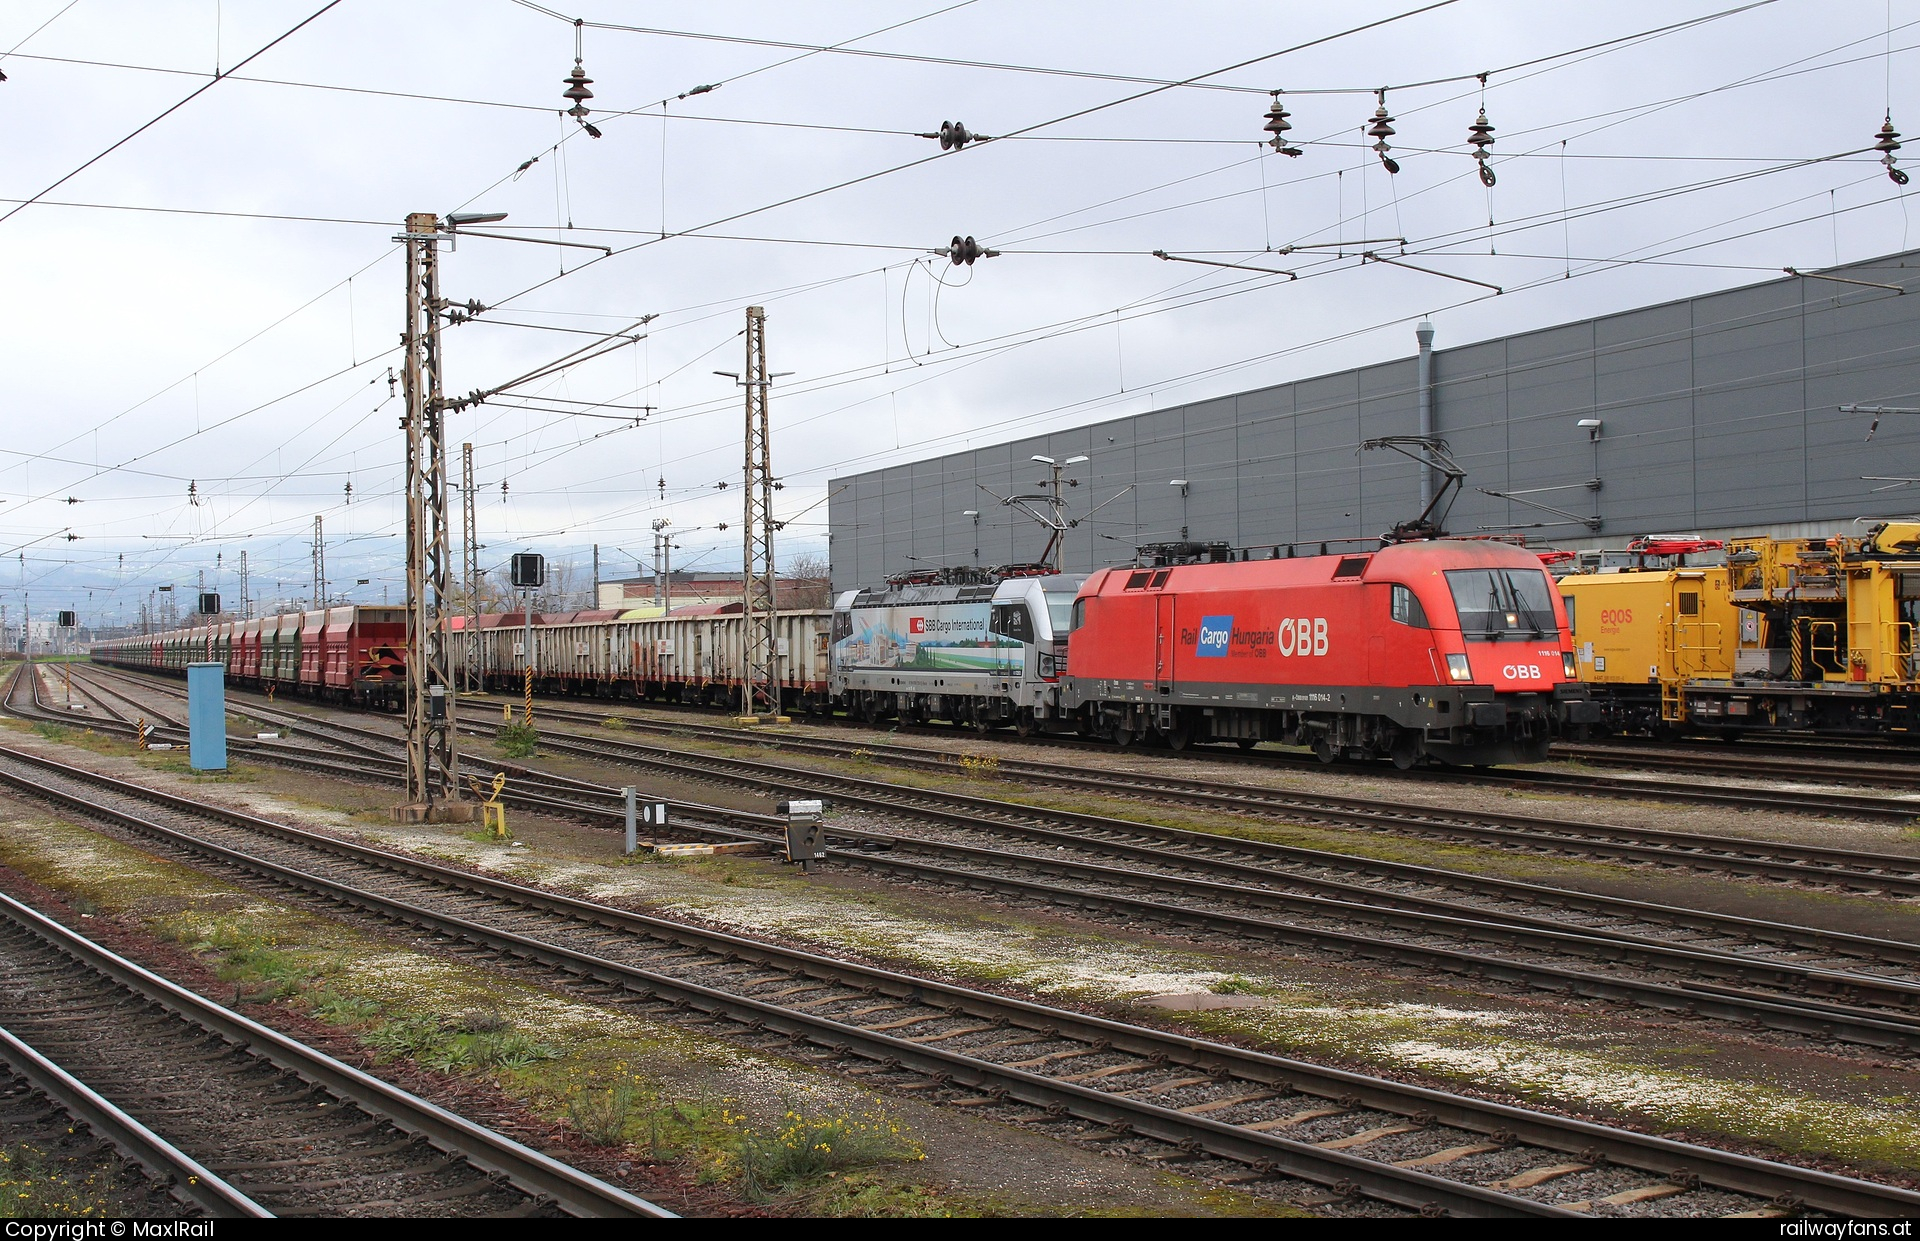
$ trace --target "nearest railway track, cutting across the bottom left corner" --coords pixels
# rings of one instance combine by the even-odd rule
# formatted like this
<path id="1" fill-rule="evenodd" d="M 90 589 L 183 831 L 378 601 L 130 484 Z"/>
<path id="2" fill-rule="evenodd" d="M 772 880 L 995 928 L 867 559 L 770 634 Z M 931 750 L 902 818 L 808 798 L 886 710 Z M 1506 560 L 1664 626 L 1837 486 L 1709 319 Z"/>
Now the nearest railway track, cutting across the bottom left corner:
<path id="1" fill-rule="evenodd" d="M 175 1178 L 209 1214 L 670 1214 L 223 1009 L 6 895 L 0 1024 L 13 1035 L 0 1041 L 0 1058 L 63 1091 L 61 1107 L 92 1107 L 88 1126 L 117 1126 L 111 1141 L 154 1160 L 156 1174 Z"/>

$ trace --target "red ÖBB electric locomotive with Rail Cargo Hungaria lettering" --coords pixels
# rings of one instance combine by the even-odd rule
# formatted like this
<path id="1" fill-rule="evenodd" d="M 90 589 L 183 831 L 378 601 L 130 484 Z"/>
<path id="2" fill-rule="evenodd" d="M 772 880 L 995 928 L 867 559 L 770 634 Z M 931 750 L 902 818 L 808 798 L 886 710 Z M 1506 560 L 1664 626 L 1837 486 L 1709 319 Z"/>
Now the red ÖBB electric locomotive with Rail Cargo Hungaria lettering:
<path id="1" fill-rule="evenodd" d="M 1423 755 L 1536 763 L 1555 732 L 1597 722 L 1530 551 L 1453 538 L 1284 559 L 1196 551 L 1081 586 L 1062 707 L 1083 732 L 1175 749 L 1265 740 L 1405 768 Z"/>

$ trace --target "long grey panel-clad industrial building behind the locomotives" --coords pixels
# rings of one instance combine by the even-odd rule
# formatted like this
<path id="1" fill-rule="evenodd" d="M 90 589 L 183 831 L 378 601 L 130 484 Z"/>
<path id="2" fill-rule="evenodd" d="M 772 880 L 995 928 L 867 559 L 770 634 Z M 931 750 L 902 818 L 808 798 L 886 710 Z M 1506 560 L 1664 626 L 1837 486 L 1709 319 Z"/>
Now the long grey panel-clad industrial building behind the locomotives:
<path id="1" fill-rule="evenodd" d="M 1430 352 L 1430 426 L 1467 471 L 1448 526 L 1561 548 L 1636 534 L 1805 534 L 1920 507 L 1920 252 Z M 1413 346 L 1409 334 L 1409 346 Z M 1056 461 L 1071 530 L 1064 567 L 1129 561 L 1144 542 L 1233 546 L 1367 538 L 1421 507 L 1419 467 L 1359 451 L 1421 430 L 1407 357 L 991 448 L 835 478 L 833 586 L 931 565 L 1039 557 L 1046 532 L 1000 505 Z M 1597 425 L 1596 425 L 1597 423 Z M 1183 486 L 1181 486 L 1183 484 Z M 1503 492 L 1505 499 L 1484 494 Z M 1542 509 L 1549 505 L 1559 513 Z M 970 517 L 968 511 L 977 517 Z"/>

